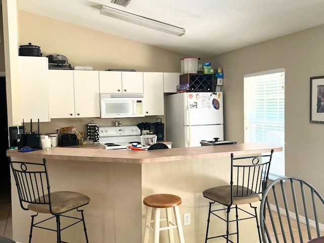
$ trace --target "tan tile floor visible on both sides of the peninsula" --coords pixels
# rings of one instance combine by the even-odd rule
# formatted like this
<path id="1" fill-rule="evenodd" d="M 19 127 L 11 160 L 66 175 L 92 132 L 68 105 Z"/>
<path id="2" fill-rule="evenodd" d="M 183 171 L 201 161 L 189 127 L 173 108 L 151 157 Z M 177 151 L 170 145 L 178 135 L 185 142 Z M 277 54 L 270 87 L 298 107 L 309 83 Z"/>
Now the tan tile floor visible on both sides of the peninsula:
<path id="1" fill-rule="evenodd" d="M 274 216 L 275 217 L 275 216 Z M 285 216 L 284 217 L 284 222 L 287 222 L 287 218 Z M 269 217 L 266 217 L 269 218 Z M 276 221 L 278 222 L 279 220 L 276 218 Z M 270 229 L 270 222 L 266 222 L 268 225 L 268 228 Z M 296 222 L 294 224 L 296 226 Z M 288 223 L 287 223 L 287 227 L 288 227 Z M 270 230 L 271 231 L 271 230 Z M 298 236 L 298 229 L 297 226 L 293 227 L 293 231 L 294 231 L 294 235 Z M 315 232 L 312 232 L 315 235 Z M 275 242 L 275 238 L 274 238 L 274 233 L 273 231 L 271 231 L 270 233 L 272 235 L 272 241 Z M 307 231 L 306 231 L 306 225 L 302 224 L 302 234 L 306 235 Z M 324 232 L 321 232 L 320 235 L 324 235 Z M 5 236 L 7 238 L 12 239 L 12 217 L 11 217 L 11 203 L 1 203 L 0 204 L 0 236 Z M 281 236 L 279 234 L 279 236 Z M 283 240 L 280 241 L 284 242 Z M 290 239 L 288 239 L 287 242 L 292 242 Z"/>

